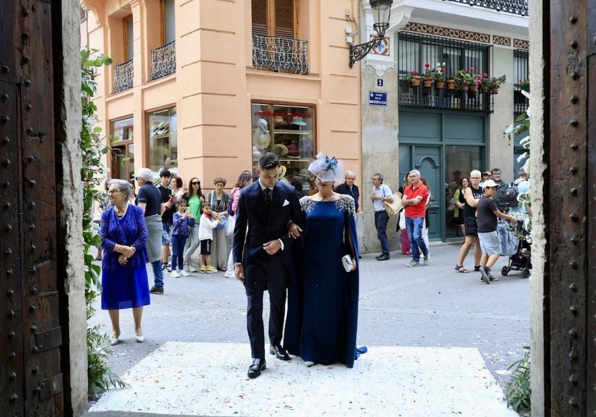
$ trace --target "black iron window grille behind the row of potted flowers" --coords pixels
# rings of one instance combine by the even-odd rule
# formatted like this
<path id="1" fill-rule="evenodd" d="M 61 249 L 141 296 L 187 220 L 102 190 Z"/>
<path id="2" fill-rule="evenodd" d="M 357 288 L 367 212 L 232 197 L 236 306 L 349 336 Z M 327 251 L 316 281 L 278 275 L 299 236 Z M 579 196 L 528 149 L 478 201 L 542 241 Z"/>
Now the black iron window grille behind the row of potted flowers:
<path id="1" fill-rule="evenodd" d="M 398 68 L 399 68 L 399 105 L 403 107 L 432 108 L 436 110 L 475 111 L 492 113 L 492 95 L 471 90 L 449 90 L 445 82 L 443 88 L 414 87 L 408 74 L 412 70 L 424 76 L 425 64 L 430 69 L 437 63 L 445 63 L 445 80 L 452 79 L 459 70 L 469 70 L 477 74 L 489 73 L 491 46 L 482 43 L 460 41 L 459 39 L 439 38 L 399 32 Z"/>

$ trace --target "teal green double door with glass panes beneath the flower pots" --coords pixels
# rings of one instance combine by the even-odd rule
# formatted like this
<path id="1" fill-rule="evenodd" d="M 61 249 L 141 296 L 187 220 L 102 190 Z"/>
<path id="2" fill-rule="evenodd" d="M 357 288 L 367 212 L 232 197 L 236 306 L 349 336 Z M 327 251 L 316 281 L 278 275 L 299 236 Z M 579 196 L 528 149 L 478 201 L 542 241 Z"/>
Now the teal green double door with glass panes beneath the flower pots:
<path id="1" fill-rule="evenodd" d="M 399 111 L 399 177 L 412 169 L 429 183 L 429 239 L 461 239 L 454 195 L 470 171 L 485 170 L 486 116 Z"/>

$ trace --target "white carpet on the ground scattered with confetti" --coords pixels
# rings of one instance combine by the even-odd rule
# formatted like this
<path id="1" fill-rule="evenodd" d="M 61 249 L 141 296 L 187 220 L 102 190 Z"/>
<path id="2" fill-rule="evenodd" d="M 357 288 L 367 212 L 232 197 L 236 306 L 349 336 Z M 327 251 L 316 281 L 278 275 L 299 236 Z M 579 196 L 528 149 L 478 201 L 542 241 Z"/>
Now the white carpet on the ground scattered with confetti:
<path id="1" fill-rule="evenodd" d="M 476 348 L 369 347 L 353 369 L 268 354 L 256 379 L 247 378 L 249 365 L 247 344 L 168 342 L 126 372 L 131 387 L 109 391 L 89 411 L 517 417 Z"/>

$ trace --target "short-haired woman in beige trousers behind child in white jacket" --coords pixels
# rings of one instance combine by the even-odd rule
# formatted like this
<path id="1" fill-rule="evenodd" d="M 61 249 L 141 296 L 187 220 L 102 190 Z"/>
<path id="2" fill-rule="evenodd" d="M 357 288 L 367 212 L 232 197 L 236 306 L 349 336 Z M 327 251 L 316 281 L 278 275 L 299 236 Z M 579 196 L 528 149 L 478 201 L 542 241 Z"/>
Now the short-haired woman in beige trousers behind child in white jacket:
<path id="1" fill-rule="evenodd" d="M 224 191 L 224 178 L 216 178 L 213 181 L 215 189 L 209 191 L 207 201 L 211 204 L 212 216 L 219 220 L 218 227 L 213 231 L 213 242 L 211 244 L 211 264 L 218 270 L 228 269 L 228 244 L 225 236 L 225 225 L 228 216 L 229 194 Z"/>

